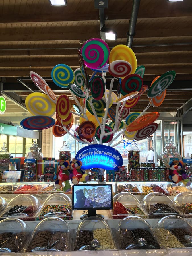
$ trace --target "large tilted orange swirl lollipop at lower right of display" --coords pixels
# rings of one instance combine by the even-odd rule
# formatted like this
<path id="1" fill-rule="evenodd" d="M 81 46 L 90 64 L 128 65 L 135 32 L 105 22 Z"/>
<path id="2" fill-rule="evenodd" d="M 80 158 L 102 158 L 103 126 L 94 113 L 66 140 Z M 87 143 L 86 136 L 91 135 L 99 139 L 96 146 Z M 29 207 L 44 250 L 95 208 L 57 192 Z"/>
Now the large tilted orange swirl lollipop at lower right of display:
<path id="1" fill-rule="evenodd" d="M 153 123 L 159 117 L 159 112 L 150 112 L 135 119 L 127 126 L 127 131 L 137 131 Z"/>

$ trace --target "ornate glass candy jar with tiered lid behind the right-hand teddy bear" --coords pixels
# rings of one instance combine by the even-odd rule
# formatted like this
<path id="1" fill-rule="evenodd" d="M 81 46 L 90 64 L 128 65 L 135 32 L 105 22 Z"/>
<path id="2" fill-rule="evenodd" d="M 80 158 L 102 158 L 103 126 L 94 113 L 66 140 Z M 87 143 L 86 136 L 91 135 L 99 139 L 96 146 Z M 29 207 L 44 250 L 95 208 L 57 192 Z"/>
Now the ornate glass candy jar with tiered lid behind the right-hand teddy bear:
<path id="1" fill-rule="evenodd" d="M 173 160 L 181 159 L 181 155 L 176 152 L 176 146 L 173 145 L 172 139 L 169 139 L 167 146 L 165 146 L 165 151 L 162 153 L 162 161 L 167 168 L 170 168 L 170 158 L 174 158 Z"/>

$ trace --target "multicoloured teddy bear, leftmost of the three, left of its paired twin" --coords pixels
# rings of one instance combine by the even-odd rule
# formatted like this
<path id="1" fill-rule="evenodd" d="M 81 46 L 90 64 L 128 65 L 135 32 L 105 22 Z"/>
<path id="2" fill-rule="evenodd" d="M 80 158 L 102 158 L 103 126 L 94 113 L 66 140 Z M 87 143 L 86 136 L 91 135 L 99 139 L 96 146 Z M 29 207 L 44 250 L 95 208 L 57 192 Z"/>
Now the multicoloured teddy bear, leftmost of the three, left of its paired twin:
<path id="1" fill-rule="evenodd" d="M 55 181 L 55 188 L 61 189 L 62 182 L 65 183 L 65 187 L 63 188 L 64 192 L 69 192 L 71 190 L 71 185 L 69 183 L 69 175 L 70 175 L 70 163 L 68 160 L 59 160 L 57 166 L 57 180 Z"/>

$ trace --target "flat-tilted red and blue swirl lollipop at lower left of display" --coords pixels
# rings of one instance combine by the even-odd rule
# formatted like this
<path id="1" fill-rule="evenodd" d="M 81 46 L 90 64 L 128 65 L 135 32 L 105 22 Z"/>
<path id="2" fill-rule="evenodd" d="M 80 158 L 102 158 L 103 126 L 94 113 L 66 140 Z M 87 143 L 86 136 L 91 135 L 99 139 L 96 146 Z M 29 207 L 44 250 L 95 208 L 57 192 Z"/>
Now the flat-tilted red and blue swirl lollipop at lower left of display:
<path id="1" fill-rule="evenodd" d="M 54 124 L 55 119 L 43 115 L 26 117 L 20 122 L 21 127 L 27 130 L 44 130 L 52 127 Z"/>

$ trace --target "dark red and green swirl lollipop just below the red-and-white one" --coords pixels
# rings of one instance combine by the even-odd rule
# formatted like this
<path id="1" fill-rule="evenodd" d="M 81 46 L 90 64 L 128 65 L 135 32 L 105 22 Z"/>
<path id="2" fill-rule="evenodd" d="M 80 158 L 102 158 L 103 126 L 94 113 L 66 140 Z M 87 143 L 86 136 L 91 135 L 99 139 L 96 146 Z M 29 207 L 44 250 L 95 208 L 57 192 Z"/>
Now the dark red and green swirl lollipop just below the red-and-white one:
<path id="1" fill-rule="evenodd" d="M 131 74 L 125 77 L 121 82 L 121 94 L 126 95 L 130 92 L 141 90 L 143 86 L 143 79 L 137 74 Z"/>

